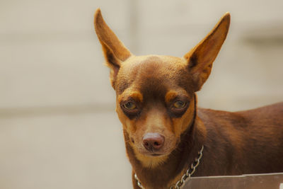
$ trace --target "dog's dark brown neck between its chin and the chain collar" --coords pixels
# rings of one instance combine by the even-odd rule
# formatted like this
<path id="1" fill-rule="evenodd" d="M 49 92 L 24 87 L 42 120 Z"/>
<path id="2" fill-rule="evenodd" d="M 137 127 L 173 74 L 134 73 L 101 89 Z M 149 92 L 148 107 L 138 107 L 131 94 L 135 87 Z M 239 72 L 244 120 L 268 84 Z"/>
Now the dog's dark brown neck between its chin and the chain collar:
<path id="1" fill-rule="evenodd" d="M 202 122 L 197 117 L 196 99 L 194 112 L 190 127 L 181 135 L 178 147 L 168 155 L 168 159 L 163 164 L 154 168 L 146 168 L 141 164 L 131 145 L 127 143 L 129 141 L 127 132 L 124 132 L 129 161 L 134 173 L 137 173 L 139 181 L 145 188 L 167 188 L 180 179 L 178 177 L 197 157 L 197 152 L 201 149 L 206 134 Z"/>

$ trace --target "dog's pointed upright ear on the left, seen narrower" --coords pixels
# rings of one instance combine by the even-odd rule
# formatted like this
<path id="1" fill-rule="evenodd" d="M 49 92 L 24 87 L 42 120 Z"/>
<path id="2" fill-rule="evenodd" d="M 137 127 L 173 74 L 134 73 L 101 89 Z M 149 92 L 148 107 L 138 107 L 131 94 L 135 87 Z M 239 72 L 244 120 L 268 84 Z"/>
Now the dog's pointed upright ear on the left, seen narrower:
<path id="1" fill-rule="evenodd" d="M 115 88 L 115 80 L 120 66 L 122 62 L 132 54 L 105 23 L 100 8 L 96 10 L 94 15 L 94 27 L 96 28 L 96 35 L 103 48 L 106 64 L 110 67 L 110 81 L 112 87 Z"/>

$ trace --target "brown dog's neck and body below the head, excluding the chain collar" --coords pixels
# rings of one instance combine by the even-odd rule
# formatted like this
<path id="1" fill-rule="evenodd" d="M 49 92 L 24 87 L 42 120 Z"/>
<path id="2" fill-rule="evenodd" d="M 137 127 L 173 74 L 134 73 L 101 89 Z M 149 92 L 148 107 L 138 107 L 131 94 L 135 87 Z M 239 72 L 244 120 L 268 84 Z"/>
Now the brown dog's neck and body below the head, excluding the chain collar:
<path id="1" fill-rule="evenodd" d="M 182 136 L 178 150 L 166 164 L 145 169 L 137 159 L 131 159 L 134 154 L 127 147 L 129 159 L 141 183 L 151 182 L 149 188 L 168 188 L 167 181 L 170 186 L 180 180 L 202 145 L 204 157 L 194 176 L 282 172 L 282 115 L 283 103 L 236 113 L 197 108 L 193 130 Z M 137 185 L 134 178 L 133 184 Z"/>

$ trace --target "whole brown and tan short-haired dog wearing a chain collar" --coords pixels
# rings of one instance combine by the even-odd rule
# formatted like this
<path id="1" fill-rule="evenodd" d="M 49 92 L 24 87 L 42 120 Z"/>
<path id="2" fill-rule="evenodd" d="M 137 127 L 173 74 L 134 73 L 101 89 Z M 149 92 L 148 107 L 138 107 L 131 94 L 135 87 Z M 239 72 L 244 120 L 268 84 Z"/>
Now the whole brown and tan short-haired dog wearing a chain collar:
<path id="1" fill-rule="evenodd" d="M 192 174 L 283 171 L 283 103 L 235 113 L 196 106 L 195 92 L 226 39 L 229 13 L 181 58 L 132 55 L 100 9 L 94 24 L 117 95 L 134 188 L 178 188 Z"/>

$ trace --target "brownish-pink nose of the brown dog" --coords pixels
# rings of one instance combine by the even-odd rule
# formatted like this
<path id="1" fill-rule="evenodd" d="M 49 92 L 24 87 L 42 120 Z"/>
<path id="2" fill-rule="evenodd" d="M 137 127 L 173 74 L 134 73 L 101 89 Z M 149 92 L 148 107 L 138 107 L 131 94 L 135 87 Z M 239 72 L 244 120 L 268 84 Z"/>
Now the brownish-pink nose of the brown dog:
<path id="1" fill-rule="evenodd" d="M 163 147 L 164 137 L 156 132 L 149 132 L 144 134 L 142 143 L 145 149 L 149 151 L 156 151 Z"/>

